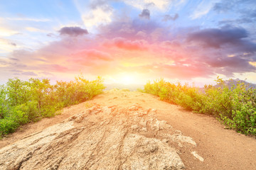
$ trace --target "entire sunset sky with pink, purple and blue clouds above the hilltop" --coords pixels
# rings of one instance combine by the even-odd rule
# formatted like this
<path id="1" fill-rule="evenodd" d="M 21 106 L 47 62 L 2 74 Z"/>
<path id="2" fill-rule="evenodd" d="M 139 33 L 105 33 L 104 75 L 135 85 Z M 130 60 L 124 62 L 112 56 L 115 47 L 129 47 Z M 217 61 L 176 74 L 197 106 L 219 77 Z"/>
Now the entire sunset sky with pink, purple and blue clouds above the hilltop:
<path id="1" fill-rule="evenodd" d="M 256 83 L 255 23 L 255 0 L 0 0 L 0 84 Z"/>

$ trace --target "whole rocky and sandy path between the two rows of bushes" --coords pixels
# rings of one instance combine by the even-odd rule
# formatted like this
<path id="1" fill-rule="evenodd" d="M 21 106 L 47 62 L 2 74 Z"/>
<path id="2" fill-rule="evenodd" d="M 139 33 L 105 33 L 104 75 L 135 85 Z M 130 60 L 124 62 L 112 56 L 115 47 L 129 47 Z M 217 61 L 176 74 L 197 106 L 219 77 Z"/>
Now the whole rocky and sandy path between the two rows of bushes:
<path id="1" fill-rule="evenodd" d="M 156 96 L 106 91 L 0 141 L 0 169 L 255 169 L 256 140 Z"/>

